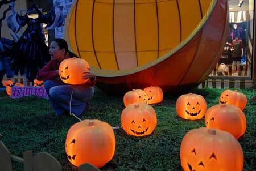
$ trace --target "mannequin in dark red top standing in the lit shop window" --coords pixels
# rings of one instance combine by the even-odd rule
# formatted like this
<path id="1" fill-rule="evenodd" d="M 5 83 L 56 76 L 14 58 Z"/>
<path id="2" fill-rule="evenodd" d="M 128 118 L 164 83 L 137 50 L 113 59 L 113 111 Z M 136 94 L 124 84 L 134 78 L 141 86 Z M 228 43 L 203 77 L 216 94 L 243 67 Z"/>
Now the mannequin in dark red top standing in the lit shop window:
<path id="1" fill-rule="evenodd" d="M 241 58 L 243 56 L 243 42 L 241 39 L 234 39 L 231 43 L 232 50 L 232 75 L 240 71 Z"/>

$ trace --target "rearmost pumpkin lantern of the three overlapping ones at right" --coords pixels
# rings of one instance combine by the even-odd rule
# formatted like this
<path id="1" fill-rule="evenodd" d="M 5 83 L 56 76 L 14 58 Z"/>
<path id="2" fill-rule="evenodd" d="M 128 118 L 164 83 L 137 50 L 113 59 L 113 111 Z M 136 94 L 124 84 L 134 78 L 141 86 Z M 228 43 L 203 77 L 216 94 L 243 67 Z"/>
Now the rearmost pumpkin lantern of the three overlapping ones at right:
<path id="1" fill-rule="evenodd" d="M 220 104 L 235 105 L 241 110 L 245 109 L 247 104 L 247 98 L 243 93 L 238 92 L 237 90 L 225 90 L 221 93 Z"/>

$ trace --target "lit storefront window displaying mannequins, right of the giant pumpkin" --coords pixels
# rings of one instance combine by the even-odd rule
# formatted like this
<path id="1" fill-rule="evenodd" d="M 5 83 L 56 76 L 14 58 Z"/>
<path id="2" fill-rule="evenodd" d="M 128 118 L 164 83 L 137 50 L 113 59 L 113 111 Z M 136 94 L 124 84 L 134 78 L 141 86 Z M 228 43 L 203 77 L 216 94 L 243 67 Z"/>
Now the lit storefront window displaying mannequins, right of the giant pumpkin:
<path id="1" fill-rule="evenodd" d="M 253 0 L 230 0 L 229 33 L 210 76 L 250 77 L 253 54 Z"/>

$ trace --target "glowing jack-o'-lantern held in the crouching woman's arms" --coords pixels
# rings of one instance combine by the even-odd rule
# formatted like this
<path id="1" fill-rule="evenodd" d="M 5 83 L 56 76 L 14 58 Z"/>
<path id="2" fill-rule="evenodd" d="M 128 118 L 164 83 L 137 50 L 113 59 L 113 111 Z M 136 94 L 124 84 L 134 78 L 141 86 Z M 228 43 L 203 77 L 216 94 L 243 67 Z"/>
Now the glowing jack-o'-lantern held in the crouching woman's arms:
<path id="1" fill-rule="evenodd" d="M 84 84 L 88 79 L 83 79 L 84 72 L 89 71 L 89 64 L 81 58 L 69 58 L 60 63 L 60 79 L 66 84 Z"/>

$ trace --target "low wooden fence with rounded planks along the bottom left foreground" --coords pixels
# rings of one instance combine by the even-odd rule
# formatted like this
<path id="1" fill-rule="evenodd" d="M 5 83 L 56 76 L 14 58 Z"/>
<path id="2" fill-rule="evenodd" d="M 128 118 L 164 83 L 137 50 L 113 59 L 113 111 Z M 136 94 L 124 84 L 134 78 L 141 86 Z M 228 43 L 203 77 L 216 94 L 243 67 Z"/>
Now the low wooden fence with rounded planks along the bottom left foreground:
<path id="1" fill-rule="evenodd" d="M 25 171 L 61 171 L 60 163 L 46 152 L 33 155 L 32 151 L 23 153 L 23 158 L 11 155 L 9 150 L 0 141 L 0 170 L 13 171 L 12 161 L 22 163 Z M 100 171 L 98 168 L 88 163 L 77 168 L 78 171 Z"/>

